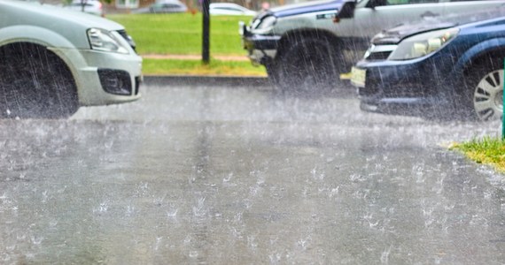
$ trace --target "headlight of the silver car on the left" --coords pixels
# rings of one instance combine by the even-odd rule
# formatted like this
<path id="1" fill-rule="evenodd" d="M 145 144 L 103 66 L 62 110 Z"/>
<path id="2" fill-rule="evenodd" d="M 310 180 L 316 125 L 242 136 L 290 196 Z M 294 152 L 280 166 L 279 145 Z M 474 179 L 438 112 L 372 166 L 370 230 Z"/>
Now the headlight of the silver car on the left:
<path id="1" fill-rule="evenodd" d="M 91 49 L 128 54 L 128 48 L 109 31 L 99 28 L 89 28 L 88 39 Z"/>

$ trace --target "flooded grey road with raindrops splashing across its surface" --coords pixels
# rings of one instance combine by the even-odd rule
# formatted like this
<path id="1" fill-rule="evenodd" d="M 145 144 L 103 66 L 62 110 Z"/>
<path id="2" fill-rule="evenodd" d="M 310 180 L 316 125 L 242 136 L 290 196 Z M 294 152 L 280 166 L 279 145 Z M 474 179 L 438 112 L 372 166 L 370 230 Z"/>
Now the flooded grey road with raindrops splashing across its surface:
<path id="1" fill-rule="evenodd" d="M 0 263 L 503 263 L 503 176 L 445 148 L 498 133 L 269 87 L 0 120 Z"/>

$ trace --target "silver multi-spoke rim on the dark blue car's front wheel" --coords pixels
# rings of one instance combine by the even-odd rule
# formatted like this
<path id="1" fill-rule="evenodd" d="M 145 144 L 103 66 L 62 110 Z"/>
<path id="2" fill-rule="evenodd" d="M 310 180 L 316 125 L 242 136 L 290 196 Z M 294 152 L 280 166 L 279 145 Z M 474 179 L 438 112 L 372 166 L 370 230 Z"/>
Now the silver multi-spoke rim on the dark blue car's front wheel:
<path id="1" fill-rule="evenodd" d="M 489 72 L 478 82 L 473 106 L 480 120 L 499 119 L 503 115 L 503 70 Z"/>

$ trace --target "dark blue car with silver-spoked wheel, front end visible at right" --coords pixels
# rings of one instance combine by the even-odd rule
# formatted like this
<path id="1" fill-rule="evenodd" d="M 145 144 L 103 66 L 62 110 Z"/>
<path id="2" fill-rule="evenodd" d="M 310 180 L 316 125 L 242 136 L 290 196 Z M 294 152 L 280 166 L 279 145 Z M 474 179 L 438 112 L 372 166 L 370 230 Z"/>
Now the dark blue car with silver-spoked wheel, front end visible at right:
<path id="1" fill-rule="evenodd" d="M 492 120 L 503 114 L 504 59 L 505 11 L 496 9 L 377 34 L 351 82 L 361 110 Z"/>

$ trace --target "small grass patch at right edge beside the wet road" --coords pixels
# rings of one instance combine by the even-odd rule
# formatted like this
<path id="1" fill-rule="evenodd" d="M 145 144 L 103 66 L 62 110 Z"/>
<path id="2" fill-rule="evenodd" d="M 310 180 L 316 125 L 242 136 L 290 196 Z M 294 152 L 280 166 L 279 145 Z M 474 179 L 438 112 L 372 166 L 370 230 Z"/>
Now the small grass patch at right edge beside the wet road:
<path id="1" fill-rule="evenodd" d="M 451 149 L 460 150 L 476 163 L 490 164 L 505 173 L 505 140 L 486 137 L 454 144 Z"/>

